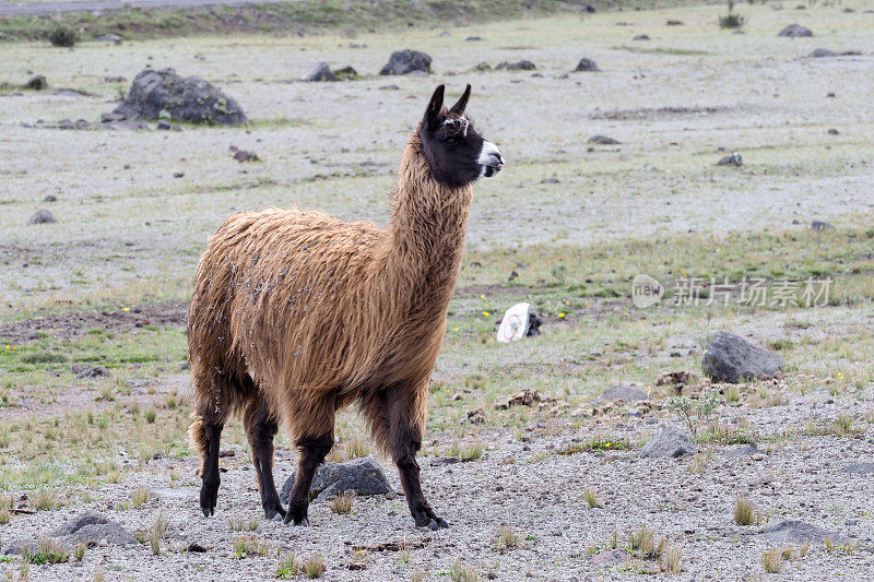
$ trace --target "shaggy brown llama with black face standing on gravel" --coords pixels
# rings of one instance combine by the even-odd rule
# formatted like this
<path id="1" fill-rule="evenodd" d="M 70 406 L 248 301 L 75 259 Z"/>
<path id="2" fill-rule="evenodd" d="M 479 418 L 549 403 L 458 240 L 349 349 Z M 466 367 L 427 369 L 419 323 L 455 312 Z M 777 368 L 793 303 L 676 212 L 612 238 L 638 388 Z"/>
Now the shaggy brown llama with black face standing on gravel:
<path id="1" fill-rule="evenodd" d="M 461 268 L 474 182 L 504 167 L 444 85 L 401 156 L 391 219 L 380 229 L 322 212 L 268 209 L 232 216 L 210 238 L 188 323 L 192 448 L 200 508 L 215 512 L 218 442 L 243 418 L 267 519 L 308 525 L 309 487 L 334 443 L 334 415 L 356 403 L 398 467 L 417 527 L 448 527 L 422 492 L 428 382 Z M 297 447 L 285 511 L 273 482 L 283 423 Z"/>

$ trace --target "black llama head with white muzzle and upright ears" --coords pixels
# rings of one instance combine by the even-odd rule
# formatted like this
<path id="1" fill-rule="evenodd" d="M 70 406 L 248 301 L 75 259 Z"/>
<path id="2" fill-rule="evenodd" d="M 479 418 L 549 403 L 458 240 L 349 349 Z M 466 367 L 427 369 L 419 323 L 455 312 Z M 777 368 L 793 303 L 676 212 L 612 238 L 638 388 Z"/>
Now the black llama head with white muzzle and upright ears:
<path id="1" fill-rule="evenodd" d="M 418 130 L 432 176 L 445 186 L 459 187 L 480 176 L 497 175 L 504 167 L 500 150 L 476 132 L 464 112 L 471 86 L 449 109 L 444 107 L 444 91 L 439 85 L 434 92 Z"/>

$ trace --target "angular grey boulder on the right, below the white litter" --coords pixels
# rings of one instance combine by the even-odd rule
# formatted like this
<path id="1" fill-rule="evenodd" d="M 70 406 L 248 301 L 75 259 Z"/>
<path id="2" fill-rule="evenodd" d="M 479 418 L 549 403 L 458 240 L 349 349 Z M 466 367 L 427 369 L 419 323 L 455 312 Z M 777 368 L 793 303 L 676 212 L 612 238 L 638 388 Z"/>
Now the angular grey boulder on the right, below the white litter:
<path id="1" fill-rule="evenodd" d="M 727 331 L 718 331 L 701 359 L 701 370 L 714 382 L 737 383 L 747 379 L 769 379 L 783 367 L 783 358 L 756 347 Z"/>

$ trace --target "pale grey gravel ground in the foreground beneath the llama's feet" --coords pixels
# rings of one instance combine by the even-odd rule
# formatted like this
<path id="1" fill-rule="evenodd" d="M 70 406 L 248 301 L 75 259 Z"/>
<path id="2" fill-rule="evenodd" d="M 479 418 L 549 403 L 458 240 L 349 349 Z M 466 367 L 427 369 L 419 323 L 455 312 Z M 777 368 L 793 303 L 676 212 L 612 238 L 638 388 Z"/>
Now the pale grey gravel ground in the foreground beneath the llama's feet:
<path id="1" fill-rule="evenodd" d="M 781 579 L 815 580 L 842 578 L 863 580 L 874 568 L 872 544 L 874 521 L 871 498 L 874 477 L 843 473 L 855 462 L 874 461 L 874 432 L 851 438 L 776 438 L 783 430 L 800 429 L 805 423 L 831 421 L 839 413 L 872 414 L 869 390 L 852 400 L 834 400 L 825 388 L 794 396 L 786 406 L 748 409 L 727 408 L 721 420 L 730 426 L 739 419 L 758 432 L 758 456 L 733 458 L 725 453 L 736 447 L 716 447 L 712 459 L 698 474 L 689 471 L 689 458 L 639 459 L 635 449 L 610 452 L 556 454 L 563 448 L 594 435 L 642 441 L 670 423 L 645 417 L 587 423 L 574 430 L 562 423 L 534 427 L 521 440 L 494 432 L 488 450 L 479 460 L 456 464 L 433 464 L 424 458 L 423 480 L 432 504 L 451 524 L 447 531 L 414 528 L 402 496 L 389 495 L 355 500 L 353 513 L 334 514 L 326 503 L 310 509 L 312 526 L 299 528 L 276 522 L 261 522 L 257 534 L 270 547 L 268 557 L 237 559 L 233 542 L 240 535 L 229 528 L 231 518 L 259 515 L 255 474 L 245 452 L 222 460 L 223 474 L 218 508 L 204 519 L 198 508 L 198 487 L 188 482 L 193 459 L 150 462 L 126 483 L 107 486 L 95 495 L 99 503 L 19 518 L 0 530 L 3 544 L 15 538 L 37 538 L 60 523 L 93 509 L 119 521 L 129 531 L 149 527 L 161 508 L 169 520 L 164 553 L 153 557 L 145 546 L 96 547 L 81 563 L 34 566 L 36 580 L 90 579 L 103 568 L 108 579 L 251 580 L 275 575 L 275 553 L 294 551 L 300 557 L 319 553 L 328 567 L 327 580 L 403 580 L 416 569 L 429 579 L 450 570 L 457 558 L 475 567 L 481 575 L 500 580 L 594 580 L 627 579 L 626 559 L 613 565 L 594 563 L 590 556 L 606 549 L 613 532 L 619 544 L 643 525 L 657 538 L 666 537 L 682 548 L 682 571 L 677 580 L 748 580 L 761 575 L 761 556 L 775 544 L 757 534 L 784 519 L 804 522 L 852 538 L 852 550 L 826 549 L 814 542 L 803 558 L 783 565 Z M 486 437 L 488 437 L 486 435 Z M 287 451 L 277 454 L 281 480 L 293 466 Z M 168 475 L 182 475 L 182 485 L 170 486 Z M 393 470 L 390 483 L 400 489 Z M 149 486 L 157 500 L 139 510 L 119 510 L 130 491 Z M 603 503 L 592 509 L 584 491 L 592 489 Z M 743 496 L 767 512 L 763 526 L 736 525 L 732 518 L 735 498 Z M 517 548 L 496 549 L 498 527 L 512 525 L 520 536 Z M 358 553 L 356 546 L 406 543 L 409 565 L 399 553 Z M 180 551 L 191 543 L 208 548 L 204 554 Z M 418 544 L 422 547 L 417 547 Z M 779 545 L 786 548 L 788 545 Z M 798 551 L 799 545 L 795 544 Z M 361 568 L 361 569 L 358 569 Z M 643 562 L 656 569 L 654 561 Z M 828 572 L 828 574 L 825 574 Z"/>

